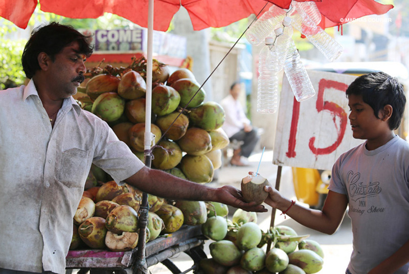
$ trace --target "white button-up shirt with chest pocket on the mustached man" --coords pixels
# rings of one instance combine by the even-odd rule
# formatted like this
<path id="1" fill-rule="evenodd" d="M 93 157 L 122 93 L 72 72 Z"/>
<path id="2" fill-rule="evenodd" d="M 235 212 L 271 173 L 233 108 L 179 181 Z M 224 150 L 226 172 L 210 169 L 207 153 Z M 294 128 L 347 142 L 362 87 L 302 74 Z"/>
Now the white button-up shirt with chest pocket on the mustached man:
<path id="1" fill-rule="evenodd" d="M 0 267 L 65 273 L 73 217 L 93 162 L 117 183 L 144 166 L 72 97 L 52 128 L 32 80 L 0 91 Z"/>

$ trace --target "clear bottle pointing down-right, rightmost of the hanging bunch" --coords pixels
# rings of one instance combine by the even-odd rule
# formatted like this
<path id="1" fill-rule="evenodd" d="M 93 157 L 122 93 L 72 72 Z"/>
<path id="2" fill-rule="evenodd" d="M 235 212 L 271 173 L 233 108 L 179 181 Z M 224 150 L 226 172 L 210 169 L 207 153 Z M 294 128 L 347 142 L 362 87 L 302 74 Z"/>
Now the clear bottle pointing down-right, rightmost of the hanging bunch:
<path id="1" fill-rule="evenodd" d="M 307 13 L 297 7 L 297 5 L 294 5 L 288 13 L 288 16 L 292 19 L 292 26 L 304 34 L 329 61 L 338 58 L 343 51 L 343 47 L 321 27 L 317 26 Z"/>

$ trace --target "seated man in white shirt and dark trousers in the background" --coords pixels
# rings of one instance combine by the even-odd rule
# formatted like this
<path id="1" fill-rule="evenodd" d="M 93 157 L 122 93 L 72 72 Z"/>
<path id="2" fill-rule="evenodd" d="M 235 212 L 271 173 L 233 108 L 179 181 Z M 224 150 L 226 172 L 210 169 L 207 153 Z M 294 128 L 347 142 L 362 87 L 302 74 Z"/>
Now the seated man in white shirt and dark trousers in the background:
<path id="1" fill-rule="evenodd" d="M 244 113 L 243 106 L 239 101 L 240 92 L 240 82 L 234 82 L 230 87 L 230 94 L 221 100 L 220 104 L 226 115 L 222 129 L 229 136 L 231 142 L 237 140 L 243 143 L 238 149 L 234 149 L 230 163 L 245 166 L 248 163 L 244 162 L 241 156 L 247 158 L 252 154 L 259 136 L 257 135 L 257 129 L 252 127 L 250 120 Z"/>

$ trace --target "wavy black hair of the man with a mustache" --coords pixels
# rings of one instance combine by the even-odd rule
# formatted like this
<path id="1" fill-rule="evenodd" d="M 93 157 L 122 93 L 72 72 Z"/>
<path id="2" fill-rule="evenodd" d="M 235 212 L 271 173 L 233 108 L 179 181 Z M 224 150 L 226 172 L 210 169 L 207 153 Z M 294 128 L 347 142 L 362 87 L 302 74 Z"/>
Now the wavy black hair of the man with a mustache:
<path id="1" fill-rule="evenodd" d="M 78 53 L 87 57 L 93 53 L 94 47 L 90 45 L 90 36 L 81 34 L 72 26 L 52 22 L 34 29 L 21 55 L 22 68 L 27 78 L 31 79 L 35 72 L 40 70 L 37 60 L 39 53 L 47 53 L 54 61 L 55 55 L 74 41 L 79 44 Z"/>

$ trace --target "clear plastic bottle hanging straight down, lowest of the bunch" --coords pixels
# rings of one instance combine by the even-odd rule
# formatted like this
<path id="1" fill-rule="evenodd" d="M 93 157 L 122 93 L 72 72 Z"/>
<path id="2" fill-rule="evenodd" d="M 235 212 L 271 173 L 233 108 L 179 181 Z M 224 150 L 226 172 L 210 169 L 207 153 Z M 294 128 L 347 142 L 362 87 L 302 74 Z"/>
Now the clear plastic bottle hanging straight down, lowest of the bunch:
<path id="1" fill-rule="evenodd" d="M 275 113 L 278 97 L 278 55 L 274 38 L 265 38 L 265 46 L 259 54 L 259 78 L 257 83 L 257 112 Z"/>

